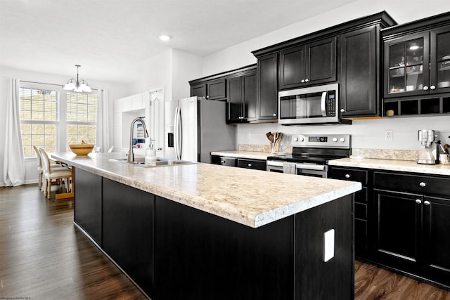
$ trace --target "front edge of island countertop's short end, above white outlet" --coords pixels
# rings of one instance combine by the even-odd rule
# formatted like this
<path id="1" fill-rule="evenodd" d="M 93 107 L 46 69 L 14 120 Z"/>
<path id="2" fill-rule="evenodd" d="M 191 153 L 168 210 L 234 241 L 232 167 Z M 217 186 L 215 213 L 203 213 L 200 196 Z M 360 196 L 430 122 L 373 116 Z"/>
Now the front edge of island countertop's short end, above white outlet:
<path id="1" fill-rule="evenodd" d="M 337 200 L 340 197 L 350 195 L 362 189 L 362 185 L 359 182 L 355 182 L 353 185 L 349 185 L 333 192 L 325 193 L 316 197 L 310 197 L 299 202 L 295 202 L 284 207 L 278 207 L 270 211 L 264 211 L 258 214 L 255 218 L 255 228 L 264 226 L 274 221 L 281 220 L 287 216 L 292 216 L 299 212 L 305 211 L 312 207 L 317 207 L 321 204 Z"/>

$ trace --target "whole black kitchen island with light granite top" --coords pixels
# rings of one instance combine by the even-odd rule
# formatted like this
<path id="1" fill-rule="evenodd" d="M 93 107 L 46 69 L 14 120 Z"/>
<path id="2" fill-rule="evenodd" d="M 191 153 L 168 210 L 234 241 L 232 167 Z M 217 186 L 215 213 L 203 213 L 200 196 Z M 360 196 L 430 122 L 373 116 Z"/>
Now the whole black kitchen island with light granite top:
<path id="1" fill-rule="evenodd" d="M 53 157 L 75 167 L 75 224 L 152 299 L 353 299 L 361 183 L 119 155 Z"/>

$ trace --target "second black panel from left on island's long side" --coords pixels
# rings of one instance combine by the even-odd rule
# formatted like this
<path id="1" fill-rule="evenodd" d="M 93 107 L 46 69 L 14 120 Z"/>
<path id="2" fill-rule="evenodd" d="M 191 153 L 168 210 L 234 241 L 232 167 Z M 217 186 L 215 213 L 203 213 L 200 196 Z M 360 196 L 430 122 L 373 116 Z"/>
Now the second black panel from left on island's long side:
<path id="1" fill-rule="evenodd" d="M 103 251 L 153 295 L 155 195 L 103 178 Z"/>

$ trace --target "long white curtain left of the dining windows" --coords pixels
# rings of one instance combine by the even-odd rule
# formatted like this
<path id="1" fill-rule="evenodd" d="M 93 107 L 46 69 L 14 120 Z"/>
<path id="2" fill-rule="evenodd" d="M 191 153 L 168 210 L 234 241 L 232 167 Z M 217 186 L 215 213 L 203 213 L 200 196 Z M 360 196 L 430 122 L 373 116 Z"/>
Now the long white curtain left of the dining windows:
<path id="1" fill-rule="evenodd" d="M 25 159 L 20 133 L 19 87 L 19 79 L 9 79 L 3 169 L 5 186 L 17 186 L 25 183 Z"/>

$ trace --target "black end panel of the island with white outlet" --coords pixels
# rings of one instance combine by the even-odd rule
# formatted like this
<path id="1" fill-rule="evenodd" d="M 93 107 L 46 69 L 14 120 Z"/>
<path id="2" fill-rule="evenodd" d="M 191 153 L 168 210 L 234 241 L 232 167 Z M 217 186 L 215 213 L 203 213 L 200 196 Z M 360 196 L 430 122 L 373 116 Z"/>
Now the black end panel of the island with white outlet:
<path id="1" fill-rule="evenodd" d="M 295 299 L 354 299 L 353 197 L 296 215 Z M 334 257 L 325 262 L 324 233 L 331 229 Z"/>

